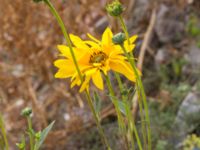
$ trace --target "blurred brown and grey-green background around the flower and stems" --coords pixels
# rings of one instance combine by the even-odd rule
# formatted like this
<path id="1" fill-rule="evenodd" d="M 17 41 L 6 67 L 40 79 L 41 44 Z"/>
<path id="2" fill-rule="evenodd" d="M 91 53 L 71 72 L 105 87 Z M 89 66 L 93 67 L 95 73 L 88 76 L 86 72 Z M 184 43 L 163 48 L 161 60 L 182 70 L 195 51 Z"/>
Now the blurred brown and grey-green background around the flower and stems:
<path id="1" fill-rule="evenodd" d="M 88 32 L 100 38 L 107 26 L 115 33 L 120 30 L 106 14 L 107 2 L 52 0 L 69 32 L 83 39 Z M 143 71 L 153 150 L 181 149 L 187 135 L 200 135 L 200 1 L 121 2 L 129 33 L 139 35 L 134 55 Z M 33 108 L 36 130 L 56 120 L 44 150 L 103 149 L 84 95 L 77 87 L 70 89 L 68 79 L 54 78 L 56 45 L 64 43 L 47 6 L 31 0 L 0 0 L 0 113 L 12 150 L 26 130 L 20 115 L 26 106 Z M 144 58 L 139 57 L 141 52 Z M 100 94 L 102 126 L 113 149 L 123 150 L 114 108 L 106 92 Z M 140 127 L 137 109 L 133 113 Z"/>

